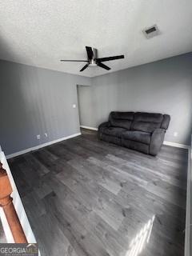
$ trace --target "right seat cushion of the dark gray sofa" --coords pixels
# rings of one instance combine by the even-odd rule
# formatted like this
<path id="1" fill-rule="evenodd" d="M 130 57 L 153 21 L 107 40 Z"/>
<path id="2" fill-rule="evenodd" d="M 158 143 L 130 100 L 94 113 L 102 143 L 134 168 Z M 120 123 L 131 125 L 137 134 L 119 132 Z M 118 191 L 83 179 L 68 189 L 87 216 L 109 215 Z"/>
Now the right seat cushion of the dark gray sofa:
<path id="1" fill-rule="evenodd" d="M 149 133 L 137 130 L 127 130 L 122 133 L 122 138 L 128 139 L 134 142 L 142 142 L 144 144 L 150 144 L 151 135 Z"/>

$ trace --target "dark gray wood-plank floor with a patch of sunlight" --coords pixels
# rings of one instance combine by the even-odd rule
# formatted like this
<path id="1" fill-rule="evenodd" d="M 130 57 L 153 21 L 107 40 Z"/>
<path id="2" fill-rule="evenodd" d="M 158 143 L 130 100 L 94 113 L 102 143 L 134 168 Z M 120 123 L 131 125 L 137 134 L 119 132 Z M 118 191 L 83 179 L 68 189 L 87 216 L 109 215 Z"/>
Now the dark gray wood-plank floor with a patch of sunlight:
<path id="1" fill-rule="evenodd" d="M 157 157 L 96 132 L 10 159 L 42 256 L 182 256 L 187 150 Z"/>

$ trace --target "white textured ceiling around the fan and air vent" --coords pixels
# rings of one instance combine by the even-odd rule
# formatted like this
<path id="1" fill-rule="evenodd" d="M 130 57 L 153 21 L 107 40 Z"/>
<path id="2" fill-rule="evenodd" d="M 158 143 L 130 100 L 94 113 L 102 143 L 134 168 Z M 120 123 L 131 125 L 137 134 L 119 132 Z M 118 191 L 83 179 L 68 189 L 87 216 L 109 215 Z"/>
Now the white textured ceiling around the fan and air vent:
<path id="1" fill-rule="evenodd" d="M 161 35 L 146 39 L 154 24 Z M 192 51 L 191 24 L 191 0 L 0 0 L 0 58 L 93 77 Z M 82 73 L 83 62 L 59 62 L 86 59 L 85 46 L 125 59 Z"/>

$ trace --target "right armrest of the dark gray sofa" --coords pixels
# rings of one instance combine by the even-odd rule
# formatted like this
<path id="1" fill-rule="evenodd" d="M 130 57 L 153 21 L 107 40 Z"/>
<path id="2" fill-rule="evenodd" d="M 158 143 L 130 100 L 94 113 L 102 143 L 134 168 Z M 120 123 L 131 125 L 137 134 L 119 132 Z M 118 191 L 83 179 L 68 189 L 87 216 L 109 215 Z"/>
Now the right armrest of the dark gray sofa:
<path id="1" fill-rule="evenodd" d="M 162 128 L 155 129 L 150 138 L 150 154 L 157 155 L 161 150 L 166 130 Z"/>

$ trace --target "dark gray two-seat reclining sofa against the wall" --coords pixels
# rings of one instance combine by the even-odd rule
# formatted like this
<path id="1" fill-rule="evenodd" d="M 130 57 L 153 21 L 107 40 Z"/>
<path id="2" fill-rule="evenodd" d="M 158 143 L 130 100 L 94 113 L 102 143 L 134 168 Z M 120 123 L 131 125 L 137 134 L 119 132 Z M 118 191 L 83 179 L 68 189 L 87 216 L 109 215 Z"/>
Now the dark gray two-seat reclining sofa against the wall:
<path id="1" fill-rule="evenodd" d="M 169 123 L 168 114 L 111 112 L 109 121 L 98 127 L 98 136 L 106 142 L 156 155 Z"/>

